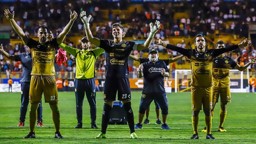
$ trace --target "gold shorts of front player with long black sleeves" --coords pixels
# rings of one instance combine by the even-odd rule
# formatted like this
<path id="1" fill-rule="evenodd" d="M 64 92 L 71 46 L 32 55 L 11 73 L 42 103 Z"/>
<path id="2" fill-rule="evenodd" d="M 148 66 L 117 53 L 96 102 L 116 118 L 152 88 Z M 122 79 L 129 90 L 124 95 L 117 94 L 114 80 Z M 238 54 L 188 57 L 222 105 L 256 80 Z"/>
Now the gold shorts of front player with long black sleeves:
<path id="1" fill-rule="evenodd" d="M 212 86 L 198 87 L 191 85 L 191 109 L 198 111 L 202 109 L 212 109 Z"/>

